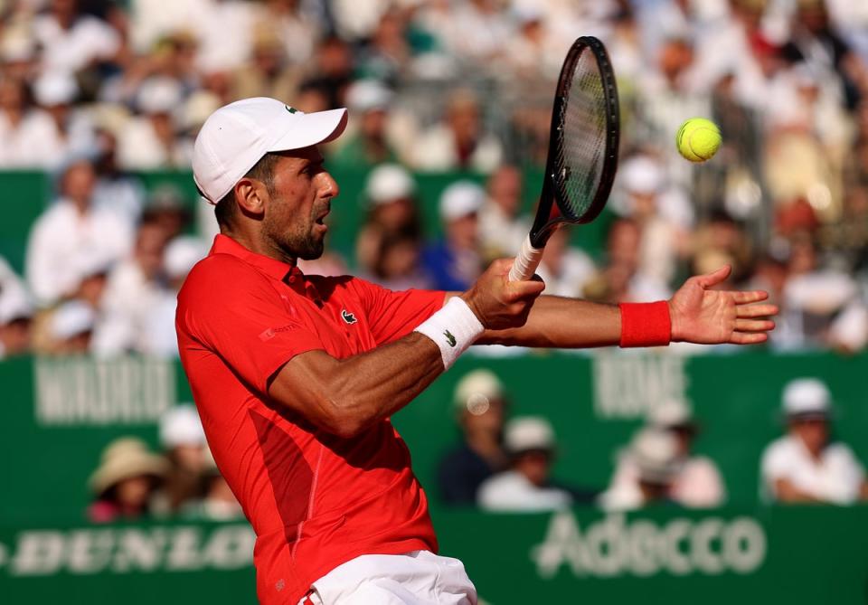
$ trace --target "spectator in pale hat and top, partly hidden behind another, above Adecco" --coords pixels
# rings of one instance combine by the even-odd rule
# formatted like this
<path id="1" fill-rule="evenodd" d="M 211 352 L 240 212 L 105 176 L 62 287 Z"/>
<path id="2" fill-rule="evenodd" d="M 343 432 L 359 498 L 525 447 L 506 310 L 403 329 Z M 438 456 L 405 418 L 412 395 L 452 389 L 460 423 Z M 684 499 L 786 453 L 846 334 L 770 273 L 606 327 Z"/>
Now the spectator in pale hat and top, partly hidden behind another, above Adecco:
<path id="1" fill-rule="evenodd" d="M 648 429 L 663 431 L 675 438 L 676 460 L 668 482 L 666 499 L 690 508 L 721 506 L 726 498 L 721 473 L 710 458 L 693 453 L 693 440 L 699 427 L 684 403 L 663 402 L 652 408 L 647 420 Z M 640 451 L 638 457 L 641 458 L 649 451 Z M 635 496 L 643 490 L 637 456 L 632 454 L 633 452 L 618 460 L 618 468 L 609 487 L 613 495 L 611 497 L 615 497 L 616 501 L 621 494 Z M 618 496 L 614 496 L 615 494 Z"/>

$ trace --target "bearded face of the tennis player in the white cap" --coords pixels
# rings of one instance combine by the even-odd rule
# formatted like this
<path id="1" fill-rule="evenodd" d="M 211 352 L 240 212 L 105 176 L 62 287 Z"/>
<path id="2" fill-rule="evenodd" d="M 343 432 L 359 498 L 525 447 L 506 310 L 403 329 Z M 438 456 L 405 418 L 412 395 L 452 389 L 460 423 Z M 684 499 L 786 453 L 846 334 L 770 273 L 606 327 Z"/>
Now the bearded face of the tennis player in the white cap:
<path id="1" fill-rule="evenodd" d="M 319 258 L 328 231 L 325 215 L 337 194 L 337 183 L 325 171 L 323 156 L 316 147 L 281 155 L 263 219 L 264 235 L 289 256 L 304 260 Z"/>

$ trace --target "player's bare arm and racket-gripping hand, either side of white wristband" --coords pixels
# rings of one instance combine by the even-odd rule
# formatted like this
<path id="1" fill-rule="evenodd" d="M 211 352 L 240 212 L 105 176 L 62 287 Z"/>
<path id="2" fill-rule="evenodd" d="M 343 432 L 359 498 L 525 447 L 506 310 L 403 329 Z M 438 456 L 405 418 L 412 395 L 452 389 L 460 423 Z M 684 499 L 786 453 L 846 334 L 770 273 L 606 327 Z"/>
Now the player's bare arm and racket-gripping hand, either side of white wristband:
<path id="1" fill-rule="evenodd" d="M 521 326 L 542 282 L 509 282 L 495 262 L 462 298 L 487 329 Z M 443 372 L 439 346 L 413 332 L 363 354 L 336 359 L 323 350 L 293 356 L 268 383 L 269 398 L 318 428 L 348 438 L 391 416 Z"/>

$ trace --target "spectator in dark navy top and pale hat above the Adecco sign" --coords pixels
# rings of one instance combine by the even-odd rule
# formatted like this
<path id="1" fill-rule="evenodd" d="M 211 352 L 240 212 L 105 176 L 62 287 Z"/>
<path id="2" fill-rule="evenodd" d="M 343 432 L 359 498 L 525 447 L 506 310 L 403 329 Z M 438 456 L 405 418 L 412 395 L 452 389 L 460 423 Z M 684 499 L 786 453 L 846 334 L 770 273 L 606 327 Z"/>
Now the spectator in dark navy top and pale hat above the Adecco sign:
<path id="1" fill-rule="evenodd" d="M 471 505 L 482 482 L 506 468 L 504 385 L 488 370 L 469 372 L 456 386 L 455 407 L 463 441 L 440 460 L 440 496 L 450 505 Z"/>

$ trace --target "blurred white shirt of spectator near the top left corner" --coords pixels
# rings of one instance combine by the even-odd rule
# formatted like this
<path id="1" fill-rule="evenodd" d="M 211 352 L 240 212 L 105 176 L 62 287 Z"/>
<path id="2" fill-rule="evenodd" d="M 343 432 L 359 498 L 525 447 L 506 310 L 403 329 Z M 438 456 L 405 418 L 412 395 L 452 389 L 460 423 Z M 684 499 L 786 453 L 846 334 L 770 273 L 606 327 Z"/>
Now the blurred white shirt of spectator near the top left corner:
<path id="1" fill-rule="evenodd" d="M 87 14 L 63 29 L 52 14 L 33 20 L 33 36 L 42 46 L 42 71 L 80 71 L 92 61 L 110 59 L 120 36 L 109 24 Z"/>

